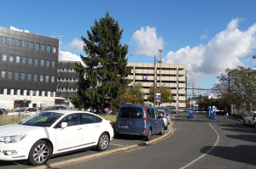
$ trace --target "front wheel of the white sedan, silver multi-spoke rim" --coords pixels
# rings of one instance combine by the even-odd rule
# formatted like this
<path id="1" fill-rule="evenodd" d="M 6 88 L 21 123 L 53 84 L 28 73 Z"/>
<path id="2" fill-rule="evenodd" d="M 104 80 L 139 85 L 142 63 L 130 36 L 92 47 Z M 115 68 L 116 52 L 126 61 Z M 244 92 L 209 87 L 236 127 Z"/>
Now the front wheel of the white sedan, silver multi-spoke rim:
<path id="1" fill-rule="evenodd" d="M 39 140 L 30 149 L 28 161 L 34 166 L 44 165 L 49 160 L 49 155 L 51 155 L 49 143 Z"/>

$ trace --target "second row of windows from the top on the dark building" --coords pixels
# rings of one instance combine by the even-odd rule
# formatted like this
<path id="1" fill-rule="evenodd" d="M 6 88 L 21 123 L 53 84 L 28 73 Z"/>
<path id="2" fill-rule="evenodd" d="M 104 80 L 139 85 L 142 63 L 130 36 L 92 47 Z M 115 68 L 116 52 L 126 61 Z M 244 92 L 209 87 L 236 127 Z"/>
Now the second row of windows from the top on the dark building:
<path id="1" fill-rule="evenodd" d="M 26 58 L 26 57 L 14 56 L 14 55 L 8 56 L 7 54 L 3 54 L 2 61 L 3 62 L 9 61 L 9 63 L 16 63 L 16 64 L 22 63 L 24 65 L 40 65 L 42 67 L 44 67 L 44 66 L 50 67 L 51 66 L 52 68 L 55 68 L 55 66 L 56 66 L 55 61 L 51 61 L 51 65 L 50 65 L 49 60 Z"/>

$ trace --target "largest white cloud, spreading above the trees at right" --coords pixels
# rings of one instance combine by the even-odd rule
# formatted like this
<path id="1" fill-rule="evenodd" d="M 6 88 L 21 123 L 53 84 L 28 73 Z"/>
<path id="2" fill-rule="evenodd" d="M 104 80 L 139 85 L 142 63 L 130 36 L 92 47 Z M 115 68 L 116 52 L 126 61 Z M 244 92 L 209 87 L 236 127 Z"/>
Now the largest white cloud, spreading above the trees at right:
<path id="1" fill-rule="evenodd" d="M 256 48 L 256 24 L 247 31 L 237 28 L 239 19 L 231 20 L 224 31 L 219 32 L 207 45 L 181 48 L 169 52 L 165 63 L 186 64 L 189 83 L 199 82 L 204 76 L 218 75 L 226 68 L 243 65 L 241 59 Z"/>

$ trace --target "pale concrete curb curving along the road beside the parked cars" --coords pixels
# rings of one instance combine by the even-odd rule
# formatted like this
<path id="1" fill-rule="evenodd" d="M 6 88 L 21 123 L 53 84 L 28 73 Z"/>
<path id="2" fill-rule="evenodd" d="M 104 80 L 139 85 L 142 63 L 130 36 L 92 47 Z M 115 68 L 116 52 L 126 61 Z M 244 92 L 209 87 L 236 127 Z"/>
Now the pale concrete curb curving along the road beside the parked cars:
<path id="1" fill-rule="evenodd" d="M 46 164 L 44 166 L 35 166 L 35 167 L 31 167 L 30 169 L 47 169 L 47 168 L 56 168 L 56 167 L 59 167 L 59 166 L 68 166 L 68 165 L 72 165 L 72 164 L 79 163 L 79 162 L 82 162 L 82 161 L 90 161 L 90 160 L 100 158 L 100 157 L 103 157 L 103 156 L 115 155 L 115 154 L 118 154 L 118 153 L 121 153 L 121 152 L 124 152 L 124 151 L 127 151 L 127 150 L 137 149 L 139 147 L 156 144 L 156 143 L 160 142 L 161 140 L 164 140 L 164 139 L 169 138 L 170 136 L 172 136 L 172 134 L 174 133 L 173 124 L 174 124 L 174 121 L 171 121 L 171 123 L 169 125 L 169 130 L 165 135 L 163 135 L 159 138 L 155 138 L 155 139 L 150 140 L 150 141 L 145 142 L 145 143 L 134 144 L 134 145 L 130 145 L 130 146 L 119 148 L 119 149 L 112 149 L 112 150 L 108 150 L 108 151 L 103 151 L 101 153 L 96 153 L 95 155 L 85 155 L 85 156 L 70 159 L 70 160 L 67 160 L 67 161 L 59 161 L 59 162 L 55 162 L 55 163 L 51 163 L 51 164 Z"/>

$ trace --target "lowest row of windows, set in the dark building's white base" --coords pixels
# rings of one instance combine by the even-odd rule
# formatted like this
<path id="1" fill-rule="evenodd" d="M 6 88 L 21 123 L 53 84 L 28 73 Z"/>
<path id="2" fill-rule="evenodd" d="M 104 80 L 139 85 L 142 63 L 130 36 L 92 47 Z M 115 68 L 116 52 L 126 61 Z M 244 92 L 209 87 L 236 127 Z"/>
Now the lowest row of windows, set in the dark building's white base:
<path id="1" fill-rule="evenodd" d="M 11 93 L 11 90 L 13 90 L 13 93 Z M 38 92 L 38 93 L 37 93 Z M 4 89 L 0 88 L 0 94 L 4 94 Z M 21 90 L 21 89 L 7 89 L 6 91 L 7 95 L 20 95 L 20 96 L 45 96 L 45 97 L 54 97 L 54 92 L 48 92 L 48 91 L 35 91 L 35 90 Z"/>

